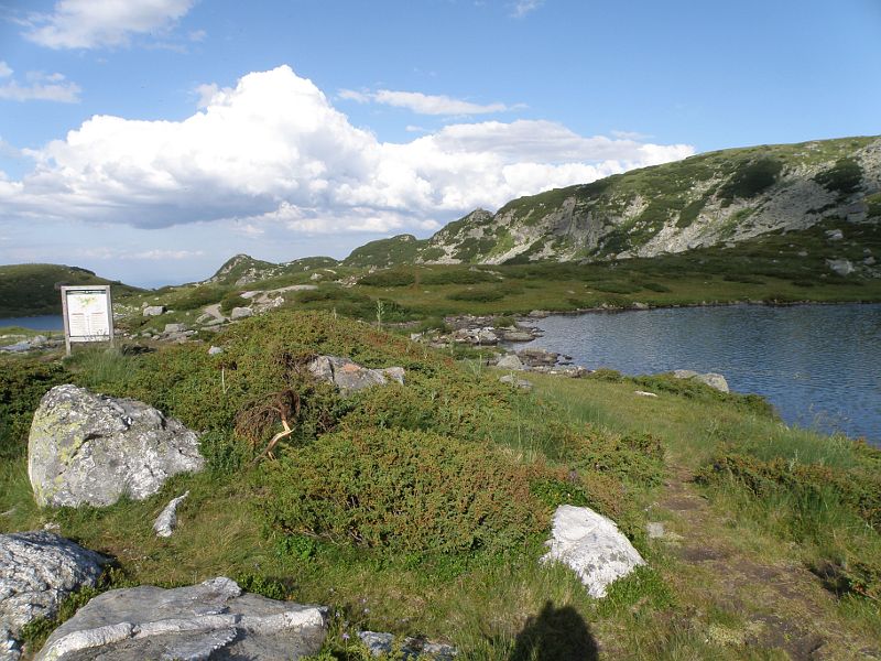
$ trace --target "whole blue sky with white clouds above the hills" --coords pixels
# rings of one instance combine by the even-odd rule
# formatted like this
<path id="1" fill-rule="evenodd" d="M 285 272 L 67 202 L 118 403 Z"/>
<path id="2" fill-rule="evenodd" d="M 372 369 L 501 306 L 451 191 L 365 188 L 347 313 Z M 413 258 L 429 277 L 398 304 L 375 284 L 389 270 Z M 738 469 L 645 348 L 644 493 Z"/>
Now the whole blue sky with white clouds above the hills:
<path id="1" fill-rule="evenodd" d="M 342 258 L 880 109 L 881 0 L 0 0 L 0 264 Z"/>

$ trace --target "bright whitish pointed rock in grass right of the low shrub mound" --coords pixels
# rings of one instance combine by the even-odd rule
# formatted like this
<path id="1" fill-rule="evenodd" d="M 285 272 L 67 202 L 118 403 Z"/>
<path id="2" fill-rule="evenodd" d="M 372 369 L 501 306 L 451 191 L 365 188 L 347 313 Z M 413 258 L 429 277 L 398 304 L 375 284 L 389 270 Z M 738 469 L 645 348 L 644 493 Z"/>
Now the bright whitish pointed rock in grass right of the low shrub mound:
<path id="1" fill-rule="evenodd" d="M 614 521 L 587 507 L 562 505 L 554 513 L 553 539 L 543 562 L 562 562 L 570 567 L 591 597 L 606 596 L 606 588 L 645 564 Z"/>

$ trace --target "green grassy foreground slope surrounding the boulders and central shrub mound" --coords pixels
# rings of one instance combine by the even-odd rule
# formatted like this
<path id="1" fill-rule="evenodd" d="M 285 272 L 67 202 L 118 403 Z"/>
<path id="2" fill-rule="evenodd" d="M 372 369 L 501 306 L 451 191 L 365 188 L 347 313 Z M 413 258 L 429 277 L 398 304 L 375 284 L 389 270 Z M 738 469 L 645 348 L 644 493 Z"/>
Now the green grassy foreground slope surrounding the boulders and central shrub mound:
<path id="1" fill-rule="evenodd" d="M 792 492 L 764 496 L 733 477 L 717 476 L 703 486 L 693 481 L 701 468 L 732 452 L 762 460 L 783 457 L 791 470 L 824 465 L 879 479 L 878 452 L 787 430 L 752 400 L 663 378 L 601 375 L 573 381 L 531 375 L 536 391 L 524 395 L 499 389 L 498 373 L 479 362 L 457 366 L 342 319 L 280 313 L 229 333 L 220 342 L 238 369 L 228 371 L 226 394 L 204 347 L 168 347 L 140 357 L 83 351 L 66 368 L 6 359 L 0 407 L 12 413 L 6 419 L 13 427 L 0 430 L 0 530 L 56 522 L 64 534 L 118 557 L 117 584 L 182 584 L 226 574 L 264 594 L 328 604 L 340 614 L 328 651 L 340 659 L 360 658 L 342 636 L 356 626 L 439 637 L 477 659 L 573 658 L 567 655 L 573 641 L 580 653 L 594 646 L 602 657 L 634 659 L 775 659 L 819 643 L 828 658 L 878 651 L 878 602 L 860 597 L 856 585 L 837 585 L 836 596 L 808 571 L 822 574 L 820 567 L 837 566 L 845 572 L 839 576 L 847 575 L 860 562 L 878 571 L 877 530 L 856 525 L 852 510 L 834 494 L 819 508 L 795 502 L 797 481 Z M 29 408 L 52 382 L 74 379 L 135 394 L 197 429 L 214 429 L 227 420 L 230 407 L 248 405 L 244 394 L 276 382 L 272 375 L 280 368 L 273 365 L 290 364 L 290 356 L 302 350 L 407 367 L 406 387 L 328 409 L 342 415 L 344 435 L 374 430 L 370 433 L 394 437 L 401 425 L 416 425 L 445 434 L 448 444 L 476 443 L 488 457 L 499 449 L 504 465 L 574 470 L 574 483 L 541 483 L 557 486 L 533 492 L 557 501 L 587 494 L 594 507 L 614 516 L 651 570 L 595 602 L 568 572 L 536 563 L 543 534 L 500 554 L 436 554 L 328 544 L 268 525 L 265 512 L 284 497 L 285 488 L 278 485 L 287 483 L 267 483 L 267 476 L 286 475 L 296 465 L 292 457 L 305 460 L 337 443 L 331 438 L 338 434 L 315 446 L 303 432 L 295 444 L 280 448 L 278 460 L 249 472 L 240 462 L 250 451 L 237 462 L 242 446 L 220 424 L 204 441 L 211 469 L 177 477 L 144 502 L 102 510 L 34 507 L 21 444 Z M 9 382 L 10 375 L 28 370 L 21 383 Z M 241 392 L 236 379 L 247 379 Z M 308 392 L 304 382 L 294 382 Z M 635 389 L 660 397 L 640 398 Z M 309 401 L 325 401 L 318 394 Z M 663 465 L 653 458 L 646 432 L 660 442 Z M 268 490 L 269 484 L 276 487 Z M 181 531 L 157 540 L 153 518 L 184 489 L 191 497 L 180 511 Z M 648 539 L 650 520 L 664 522 L 672 534 Z M 536 650 L 537 657 L 530 657 Z"/>

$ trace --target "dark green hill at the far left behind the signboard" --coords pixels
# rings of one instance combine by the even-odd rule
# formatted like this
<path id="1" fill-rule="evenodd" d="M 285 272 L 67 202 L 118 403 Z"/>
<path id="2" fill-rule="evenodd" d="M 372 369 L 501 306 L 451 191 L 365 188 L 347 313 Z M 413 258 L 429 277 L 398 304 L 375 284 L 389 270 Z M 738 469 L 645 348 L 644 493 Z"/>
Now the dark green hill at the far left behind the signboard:
<path id="1" fill-rule="evenodd" d="M 137 288 L 99 278 L 91 271 L 59 264 L 14 264 L 0 267 L 0 316 L 61 314 L 62 299 L 56 285 L 113 284 L 113 293 L 127 295 Z"/>

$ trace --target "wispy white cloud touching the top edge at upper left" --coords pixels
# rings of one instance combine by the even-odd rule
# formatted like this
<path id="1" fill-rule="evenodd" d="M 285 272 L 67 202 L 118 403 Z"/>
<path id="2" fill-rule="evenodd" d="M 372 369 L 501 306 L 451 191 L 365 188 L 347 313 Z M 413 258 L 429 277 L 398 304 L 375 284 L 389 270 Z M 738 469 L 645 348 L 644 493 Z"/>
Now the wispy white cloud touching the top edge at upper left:
<path id="1" fill-rule="evenodd" d="M 128 45 L 132 34 L 170 30 L 195 0 L 58 0 L 30 21 L 24 37 L 48 48 Z"/>

